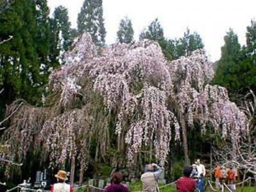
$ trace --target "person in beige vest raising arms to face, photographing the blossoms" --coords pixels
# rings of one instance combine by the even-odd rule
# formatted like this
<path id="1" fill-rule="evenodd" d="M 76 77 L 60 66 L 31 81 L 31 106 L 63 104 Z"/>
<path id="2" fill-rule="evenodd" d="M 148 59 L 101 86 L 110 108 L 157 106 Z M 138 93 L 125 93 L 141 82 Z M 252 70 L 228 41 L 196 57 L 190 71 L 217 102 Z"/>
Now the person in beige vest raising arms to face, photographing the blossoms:
<path id="1" fill-rule="evenodd" d="M 155 163 L 145 166 L 145 172 L 141 175 L 143 192 L 159 192 L 157 180 L 163 169 Z"/>

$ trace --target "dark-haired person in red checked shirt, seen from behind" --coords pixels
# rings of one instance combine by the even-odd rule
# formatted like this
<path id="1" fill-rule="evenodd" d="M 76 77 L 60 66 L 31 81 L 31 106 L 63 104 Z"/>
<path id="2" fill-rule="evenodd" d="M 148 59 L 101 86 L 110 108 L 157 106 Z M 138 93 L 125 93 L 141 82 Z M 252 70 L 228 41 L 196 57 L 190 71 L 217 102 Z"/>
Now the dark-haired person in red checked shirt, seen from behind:
<path id="1" fill-rule="evenodd" d="M 183 172 L 184 176 L 177 180 L 176 188 L 178 192 L 195 192 L 196 182 L 190 178 L 192 168 L 185 167 Z"/>

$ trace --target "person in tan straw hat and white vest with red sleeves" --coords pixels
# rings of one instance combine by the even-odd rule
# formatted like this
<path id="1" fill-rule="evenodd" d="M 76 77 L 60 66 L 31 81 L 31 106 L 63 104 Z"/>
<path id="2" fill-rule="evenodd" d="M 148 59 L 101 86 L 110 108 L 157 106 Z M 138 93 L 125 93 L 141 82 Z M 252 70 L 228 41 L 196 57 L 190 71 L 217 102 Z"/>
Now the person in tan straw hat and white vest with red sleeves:
<path id="1" fill-rule="evenodd" d="M 67 172 L 59 170 L 56 175 L 57 183 L 52 185 L 51 192 L 72 192 L 72 187 L 69 184 L 66 184 Z"/>

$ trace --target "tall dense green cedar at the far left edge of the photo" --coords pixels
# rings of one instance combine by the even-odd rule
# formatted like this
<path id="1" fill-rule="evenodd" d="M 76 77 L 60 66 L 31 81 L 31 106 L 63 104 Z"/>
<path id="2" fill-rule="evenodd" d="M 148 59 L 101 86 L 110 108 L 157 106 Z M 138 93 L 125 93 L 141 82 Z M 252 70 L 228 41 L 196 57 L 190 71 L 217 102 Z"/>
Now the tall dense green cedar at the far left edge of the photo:
<path id="1" fill-rule="evenodd" d="M 0 37 L 13 36 L 0 46 L 2 107 L 16 98 L 24 98 L 33 104 L 40 98 L 43 82 L 40 60 L 45 53 L 37 52 L 38 13 L 34 0 L 19 0 L 10 3 L 0 15 Z"/>

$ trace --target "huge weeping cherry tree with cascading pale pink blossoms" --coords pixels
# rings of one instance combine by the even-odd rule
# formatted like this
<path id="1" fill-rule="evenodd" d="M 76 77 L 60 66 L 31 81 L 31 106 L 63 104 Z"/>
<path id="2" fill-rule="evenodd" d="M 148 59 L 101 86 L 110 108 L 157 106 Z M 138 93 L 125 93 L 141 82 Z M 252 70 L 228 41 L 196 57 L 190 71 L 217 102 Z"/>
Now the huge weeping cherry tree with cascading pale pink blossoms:
<path id="1" fill-rule="evenodd" d="M 52 166 L 76 158 L 81 180 L 93 158 L 91 141 L 97 143 L 94 160 L 104 158 L 111 128 L 125 162 L 138 162 L 141 151 L 148 150 L 161 165 L 172 136 L 183 141 L 189 164 L 186 131 L 194 122 L 202 133 L 210 124 L 234 140 L 247 131 L 246 116 L 229 101 L 226 89 L 209 85 L 214 73 L 202 50 L 169 62 L 158 43 L 145 39 L 114 44 L 99 54 L 91 37 L 83 34 L 64 58 L 66 64 L 49 76 L 51 94 L 45 106 L 24 104 L 3 135 L 20 161 L 31 148 L 40 149 Z M 9 106 L 7 115 L 17 104 Z"/>

